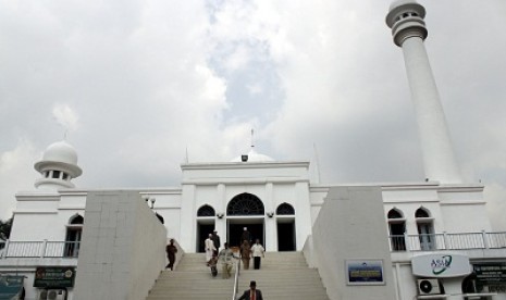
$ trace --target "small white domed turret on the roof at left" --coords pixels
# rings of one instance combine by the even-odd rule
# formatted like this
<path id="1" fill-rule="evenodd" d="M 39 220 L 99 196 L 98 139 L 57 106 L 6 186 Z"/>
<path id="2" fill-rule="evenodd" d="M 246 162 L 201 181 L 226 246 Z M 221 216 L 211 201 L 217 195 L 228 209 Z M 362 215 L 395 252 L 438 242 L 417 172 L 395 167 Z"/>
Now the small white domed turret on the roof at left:
<path id="1" fill-rule="evenodd" d="M 42 175 L 35 182 L 40 189 L 73 188 L 71 180 L 83 173 L 77 165 L 77 152 L 63 140 L 51 143 L 34 167 Z"/>

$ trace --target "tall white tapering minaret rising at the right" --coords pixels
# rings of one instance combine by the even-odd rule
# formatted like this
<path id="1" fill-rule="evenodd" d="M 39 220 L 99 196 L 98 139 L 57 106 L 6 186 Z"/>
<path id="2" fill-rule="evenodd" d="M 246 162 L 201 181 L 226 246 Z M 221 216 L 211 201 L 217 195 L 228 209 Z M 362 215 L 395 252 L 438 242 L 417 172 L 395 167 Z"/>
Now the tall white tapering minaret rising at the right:
<path id="1" fill-rule="evenodd" d="M 425 9 L 414 0 L 392 3 L 386 25 L 403 48 L 411 98 L 417 114 L 425 177 L 444 184 L 462 182 L 455 160 L 437 87 L 427 55 Z"/>

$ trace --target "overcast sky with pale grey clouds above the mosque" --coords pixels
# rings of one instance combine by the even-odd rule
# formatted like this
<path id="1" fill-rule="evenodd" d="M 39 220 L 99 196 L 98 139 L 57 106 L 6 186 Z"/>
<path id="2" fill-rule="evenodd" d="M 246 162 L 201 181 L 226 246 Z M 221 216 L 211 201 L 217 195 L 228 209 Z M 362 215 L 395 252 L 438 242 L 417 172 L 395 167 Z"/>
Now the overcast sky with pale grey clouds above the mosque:
<path id="1" fill-rule="evenodd" d="M 0 218 L 51 142 L 83 188 L 178 186 L 248 151 L 322 183 L 423 180 L 388 0 L 0 0 Z M 506 2 L 421 1 L 455 153 L 506 230 Z M 318 154 L 316 154 L 318 153 Z"/>

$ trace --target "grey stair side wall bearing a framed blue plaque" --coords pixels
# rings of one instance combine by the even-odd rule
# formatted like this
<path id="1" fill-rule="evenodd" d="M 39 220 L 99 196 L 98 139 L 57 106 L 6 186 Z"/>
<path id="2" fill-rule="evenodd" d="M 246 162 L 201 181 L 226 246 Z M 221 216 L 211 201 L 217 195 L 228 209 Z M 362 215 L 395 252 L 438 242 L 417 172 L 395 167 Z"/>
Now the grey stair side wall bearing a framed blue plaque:
<path id="1" fill-rule="evenodd" d="M 318 267 L 331 300 L 392 300 L 395 284 L 387 241 L 381 188 L 333 187 L 303 251 L 308 264 Z M 368 277 L 367 264 L 377 272 L 378 263 L 382 283 Z M 347 274 L 355 266 L 359 275 L 351 282 Z"/>

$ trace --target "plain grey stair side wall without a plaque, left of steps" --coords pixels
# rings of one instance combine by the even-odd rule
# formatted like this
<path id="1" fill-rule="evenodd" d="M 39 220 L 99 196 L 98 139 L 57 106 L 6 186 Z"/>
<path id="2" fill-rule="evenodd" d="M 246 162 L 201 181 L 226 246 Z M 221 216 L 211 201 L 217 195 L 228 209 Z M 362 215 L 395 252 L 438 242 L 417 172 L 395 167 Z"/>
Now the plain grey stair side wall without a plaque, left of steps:
<path id="1" fill-rule="evenodd" d="M 165 241 L 138 192 L 88 192 L 73 299 L 145 299 L 165 266 Z"/>

